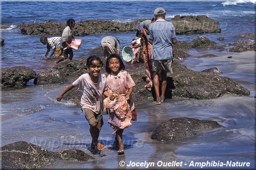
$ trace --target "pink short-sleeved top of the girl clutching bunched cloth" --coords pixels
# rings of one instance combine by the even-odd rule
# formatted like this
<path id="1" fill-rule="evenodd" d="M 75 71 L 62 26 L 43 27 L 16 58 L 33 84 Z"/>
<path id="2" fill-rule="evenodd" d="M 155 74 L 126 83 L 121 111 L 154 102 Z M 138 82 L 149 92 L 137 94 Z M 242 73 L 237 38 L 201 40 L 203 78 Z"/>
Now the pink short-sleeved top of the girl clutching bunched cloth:
<path id="1" fill-rule="evenodd" d="M 116 94 L 127 94 L 129 88 L 135 86 L 130 74 L 126 70 L 122 70 L 119 74 L 109 74 L 107 77 L 108 93 Z M 134 110 L 134 100 L 132 95 L 130 95 L 130 108 L 131 111 Z"/>

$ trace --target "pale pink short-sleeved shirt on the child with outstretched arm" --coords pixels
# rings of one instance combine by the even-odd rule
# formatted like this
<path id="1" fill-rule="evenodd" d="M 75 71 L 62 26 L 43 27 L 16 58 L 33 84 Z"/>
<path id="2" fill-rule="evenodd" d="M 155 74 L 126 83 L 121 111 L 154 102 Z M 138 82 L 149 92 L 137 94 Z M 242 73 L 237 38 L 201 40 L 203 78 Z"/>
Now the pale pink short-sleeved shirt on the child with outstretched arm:
<path id="1" fill-rule="evenodd" d="M 99 114 L 104 110 L 103 92 L 107 91 L 106 75 L 100 72 L 98 82 L 93 83 L 89 78 L 89 72 L 87 72 L 72 84 L 77 87 L 78 90 L 83 90 L 81 98 L 82 108 L 90 109 L 96 114 Z"/>

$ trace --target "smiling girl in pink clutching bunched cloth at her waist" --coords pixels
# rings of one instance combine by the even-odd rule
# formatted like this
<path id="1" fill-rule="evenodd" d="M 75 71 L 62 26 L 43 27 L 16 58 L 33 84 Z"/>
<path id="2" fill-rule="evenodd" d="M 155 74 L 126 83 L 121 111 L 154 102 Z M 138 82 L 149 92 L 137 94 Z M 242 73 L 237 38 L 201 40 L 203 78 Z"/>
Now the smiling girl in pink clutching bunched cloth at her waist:
<path id="1" fill-rule="evenodd" d="M 108 93 L 113 93 L 114 100 L 106 98 L 105 107 L 109 109 L 110 116 L 108 123 L 116 133 L 115 140 L 119 142 L 118 154 L 124 154 L 123 132 L 130 127 L 131 120 L 136 120 L 136 111 L 132 98 L 133 86 L 135 86 L 129 73 L 125 70 L 125 65 L 119 55 L 111 54 L 106 61 Z M 132 117 L 133 116 L 133 117 Z"/>

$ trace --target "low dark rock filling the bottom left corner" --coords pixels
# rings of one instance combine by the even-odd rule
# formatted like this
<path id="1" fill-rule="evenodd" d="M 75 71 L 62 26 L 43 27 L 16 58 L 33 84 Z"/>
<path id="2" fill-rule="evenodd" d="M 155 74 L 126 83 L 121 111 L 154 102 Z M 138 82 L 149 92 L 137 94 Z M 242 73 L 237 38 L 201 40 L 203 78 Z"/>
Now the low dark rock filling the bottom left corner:
<path id="1" fill-rule="evenodd" d="M 51 152 L 26 141 L 1 147 L 2 169 L 35 169 L 56 159 L 88 161 L 94 158 L 81 150 Z"/>

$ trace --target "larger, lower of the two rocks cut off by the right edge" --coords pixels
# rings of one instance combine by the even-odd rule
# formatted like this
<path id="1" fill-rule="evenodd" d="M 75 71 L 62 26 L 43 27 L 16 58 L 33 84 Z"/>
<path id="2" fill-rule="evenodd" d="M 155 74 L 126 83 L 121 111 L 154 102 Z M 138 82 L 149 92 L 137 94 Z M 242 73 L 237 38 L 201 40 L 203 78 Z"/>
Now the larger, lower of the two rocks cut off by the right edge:
<path id="1" fill-rule="evenodd" d="M 238 40 L 232 45 L 233 47 L 229 49 L 230 52 L 256 51 L 256 43 L 251 39 Z"/>

